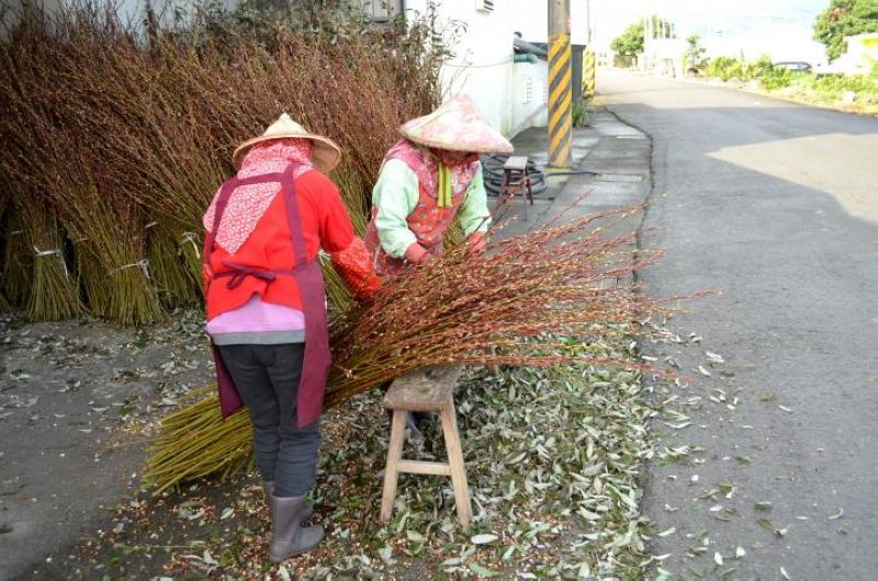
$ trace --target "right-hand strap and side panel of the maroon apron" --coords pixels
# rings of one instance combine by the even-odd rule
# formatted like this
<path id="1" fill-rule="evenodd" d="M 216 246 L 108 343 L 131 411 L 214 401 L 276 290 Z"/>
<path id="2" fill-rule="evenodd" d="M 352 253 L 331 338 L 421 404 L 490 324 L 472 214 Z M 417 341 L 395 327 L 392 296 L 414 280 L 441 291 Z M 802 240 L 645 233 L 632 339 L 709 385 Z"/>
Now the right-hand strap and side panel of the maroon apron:
<path id="1" fill-rule="evenodd" d="M 331 364 L 326 287 L 319 261 L 316 258 L 308 261 L 307 258 L 292 166 L 284 172 L 281 190 L 293 239 L 294 276 L 299 283 L 302 312 L 305 316 L 305 357 L 296 399 L 297 423 L 300 428 L 304 428 L 317 421 L 323 413 L 323 396 Z"/>

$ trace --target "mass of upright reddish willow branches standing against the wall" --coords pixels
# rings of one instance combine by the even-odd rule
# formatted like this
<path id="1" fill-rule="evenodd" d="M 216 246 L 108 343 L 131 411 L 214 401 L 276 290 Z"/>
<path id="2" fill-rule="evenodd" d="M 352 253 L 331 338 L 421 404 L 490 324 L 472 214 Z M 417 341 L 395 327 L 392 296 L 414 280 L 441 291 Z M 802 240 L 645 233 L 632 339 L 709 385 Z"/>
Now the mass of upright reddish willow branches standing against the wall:
<path id="1" fill-rule="evenodd" d="M 443 53 L 421 42 L 418 23 L 378 31 L 322 13 L 236 23 L 202 10 L 144 35 L 88 0 L 53 16 L 29 5 L 4 15 L 0 183 L 13 206 L 26 201 L 46 214 L 40 224 L 57 223 L 48 233 L 68 250 L 54 264 L 44 254 L 4 262 L 18 278 L 4 281 L 7 296 L 34 319 L 78 312 L 80 295 L 125 324 L 198 301 L 201 215 L 233 174 L 236 145 L 284 111 L 341 146 L 335 178 L 362 231 L 397 127 L 439 96 Z M 58 267 L 81 283 L 59 295 L 76 297 L 66 307 L 53 305 Z"/>

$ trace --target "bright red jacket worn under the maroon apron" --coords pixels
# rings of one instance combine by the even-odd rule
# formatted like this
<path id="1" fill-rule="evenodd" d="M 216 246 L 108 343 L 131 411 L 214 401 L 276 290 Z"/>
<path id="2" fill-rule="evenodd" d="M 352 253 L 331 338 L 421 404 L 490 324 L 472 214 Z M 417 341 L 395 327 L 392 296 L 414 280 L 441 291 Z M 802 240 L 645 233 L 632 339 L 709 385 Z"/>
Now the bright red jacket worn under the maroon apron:
<path id="1" fill-rule="evenodd" d="M 372 269 L 362 240 L 353 233 L 353 226 L 338 189 L 316 170 L 304 172 L 294 183 L 308 260 L 316 260 L 317 251 L 322 248 L 329 253 L 336 270 L 357 297 L 368 298 L 373 295 L 381 287 L 381 282 Z M 278 191 L 280 193 L 280 186 Z M 228 277 L 213 282 L 215 275 L 229 270 L 223 264 L 224 260 L 268 271 L 290 270 L 295 266 L 283 204 L 283 196 L 275 195 L 256 229 L 237 252 L 228 253 L 214 244 L 210 267 L 205 265 L 204 273 L 207 320 L 244 306 L 255 293 L 267 303 L 302 308 L 299 286 L 292 276 L 278 276 L 271 283 L 255 276 L 245 276 L 234 288 L 228 288 Z"/>

